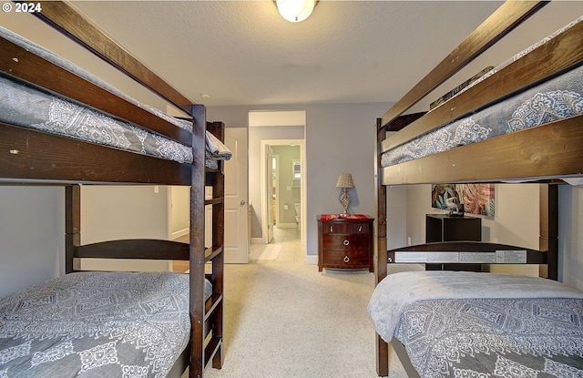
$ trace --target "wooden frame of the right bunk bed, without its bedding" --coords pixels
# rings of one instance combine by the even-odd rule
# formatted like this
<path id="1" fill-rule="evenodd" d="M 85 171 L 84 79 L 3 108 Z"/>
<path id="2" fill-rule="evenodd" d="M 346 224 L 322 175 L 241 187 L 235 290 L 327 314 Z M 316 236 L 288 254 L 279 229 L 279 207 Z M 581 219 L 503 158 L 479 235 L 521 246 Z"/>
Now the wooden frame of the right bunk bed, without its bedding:
<path id="1" fill-rule="evenodd" d="M 381 155 L 389 148 L 424 134 L 449 120 L 484 107 L 499 98 L 529 87 L 583 61 L 583 23 L 501 69 L 465 93 L 454 97 L 448 106 L 436 107 L 426 114 L 404 115 L 429 92 L 493 46 L 546 2 L 508 1 L 476 28 L 455 50 L 435 66 L 413 89 L 376 120 L 377 161 L 377 239 L 375 282 L 387 275 L 386 186 L 431 183 L 501 182 L 510 179 L 533 180 L 540 186 L 539 250 L 529 250 L 527 263 L 540 263 L 540 276 L 557 280 L 557 185 L 561 178 L 583 174 L 583 116 L 568 117 L 514 134 L 457 147 L 387 168 Z M 396 131 L 386 138 L 387 131 Z M 476 169 L 479 166 L 480 169 Z M 506 246 L 510 248 L 509 246 Z M 496 250 L 490 243 L 432 243 L 399 250 Z M 524 249 L 523 249 L 524 250 Z M 408 361 L 404 346 L 396 339 L 394 351 L 411 377 L 419 376 Z M 379 376 L 389 374 L 388 343 L 376 335 L 376 362 Z"/>

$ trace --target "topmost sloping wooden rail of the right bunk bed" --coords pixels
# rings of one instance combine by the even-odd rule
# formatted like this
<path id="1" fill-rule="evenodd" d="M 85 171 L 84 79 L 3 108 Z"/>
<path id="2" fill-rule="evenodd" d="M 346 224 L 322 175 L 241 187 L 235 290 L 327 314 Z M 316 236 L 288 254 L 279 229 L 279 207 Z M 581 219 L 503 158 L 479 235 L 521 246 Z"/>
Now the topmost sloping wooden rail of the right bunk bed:
<path id="1" fill-rule="evenodd" d="M 383 126 L 401 116 L 407 109 L 413 107 L 435 87 L 452 77 L 467 63 L 479 56 L 489 46 L 492 46 L 508 32 L 520 25 L 529 15 L 537 12 L 545 2 L 508 1 L 501 5 L 495 13 L 478 26 L 465 40 L 455 48 L 445 59 L 425 76 L 413 89 L 391 107 L 382 117 Z"/>

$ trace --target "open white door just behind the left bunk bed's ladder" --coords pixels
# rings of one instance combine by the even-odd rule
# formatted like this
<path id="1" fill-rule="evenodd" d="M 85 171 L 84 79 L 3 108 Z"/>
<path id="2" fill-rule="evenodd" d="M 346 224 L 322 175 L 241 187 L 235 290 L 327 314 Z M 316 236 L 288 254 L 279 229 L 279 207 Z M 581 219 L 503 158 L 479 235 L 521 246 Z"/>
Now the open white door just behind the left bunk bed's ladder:
<path id="1" fill-rule="evenodd" d="M 233 153 L 225 162 L 225 262 L 246 264 L 250 261 L 247 128 L 225 128 L 225 145 Z"/>

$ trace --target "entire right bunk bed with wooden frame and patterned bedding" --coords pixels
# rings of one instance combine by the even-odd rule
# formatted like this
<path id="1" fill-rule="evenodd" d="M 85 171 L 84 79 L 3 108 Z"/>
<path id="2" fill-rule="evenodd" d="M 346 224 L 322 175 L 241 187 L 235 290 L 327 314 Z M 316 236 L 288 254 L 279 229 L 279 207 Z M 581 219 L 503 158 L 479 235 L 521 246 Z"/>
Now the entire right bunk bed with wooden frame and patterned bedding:
<path id="1" fill-rule="evenodd" d="M 376 120 L 376 288 L 367 310 L 377 332 L 380 376 L 389 374 L 389 345 L 411 377 L 511 371 L 577 376 L 583 369 L 583 292 L 557 282 L 557 185 L 580 184 L 583 175 L 581 18 L 457 88 L 437 107 L 405 114 L 545 5 L 501 5 Z M 506 111 L 513 97 L 519 105 Z M 502 113 L 509 117 L 499 118 Z M 387 138 L 387 131 L 396 132 Z M 500 182 L 539 185 L 538 250 L 467 240 L 387 250 L 388 186 Z M 427 262 L 444 254 L 448 263 L 454 255 L 459 262 L 468 254 L 473 261 L 486 256 L 486 263 L 492 256 L 507 262 L 506 252 L 518 256 L 514 262 L 539 264 L 539 277 L 479 271 L 387 275 L 387 264 L 411 253 Z"/>

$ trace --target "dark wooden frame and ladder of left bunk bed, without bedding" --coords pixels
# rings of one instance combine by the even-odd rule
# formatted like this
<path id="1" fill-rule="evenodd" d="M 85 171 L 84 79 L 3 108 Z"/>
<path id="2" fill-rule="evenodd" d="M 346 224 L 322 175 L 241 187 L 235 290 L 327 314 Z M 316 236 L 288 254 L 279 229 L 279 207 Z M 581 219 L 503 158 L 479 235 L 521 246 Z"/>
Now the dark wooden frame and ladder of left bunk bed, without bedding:
<path id="1" fill-rule="evenodd" d="M 205 107 L 193 104 L 97 27 L 62 2 L 42 2 L 36 14 L 67 37 L 118 67 L 170 104 L 192 117 L 189 133 L 142 108 L 70 74 L 19 46 L 0 38 L 0 70 L 28 85 L 43 87 L 90 107 L 192 147 L 192 164 L 180 164 L 133 152 L 63 138 L 34 129 L 0 123 L 0 179 L 6 185 L 63 185 L 66 191 L 66 272 L 78 269 L 80 258 L 124 258 L 189 261 L 190 342 L 169 376 L 202 377 L 205 367 L 220 368 L 223 358 L 224 173 L 205 168 L 205 129 L 221 141 L 224 125 L 207 122 Z M 170 240 L 111 240 L 80 245 L 78 184 L 148 184 L 190 186 L 189 243 Z M 212 186 L 212 199 L 205 199 Z M 212 206 L 212 247 L 205 249 L 205 205 Z M 205 273 L 206 263 L 211 272 Z M 204 300 L 204 279 L 213 288 Z"/>

